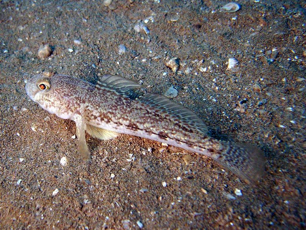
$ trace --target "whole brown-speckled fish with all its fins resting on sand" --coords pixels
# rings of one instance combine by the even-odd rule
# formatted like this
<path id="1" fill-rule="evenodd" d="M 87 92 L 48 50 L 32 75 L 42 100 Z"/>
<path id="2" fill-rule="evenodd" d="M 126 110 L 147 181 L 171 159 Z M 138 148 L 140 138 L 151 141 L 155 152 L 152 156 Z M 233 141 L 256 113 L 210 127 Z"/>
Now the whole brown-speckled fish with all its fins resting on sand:
<path id="1" fill-rule="evenodd" d="M 103 75 L 96 85 L 66 75 L 37 75 L 28 80 L 28 96 L 49 113 L 76 123 L 78 151 L 90 158 L 85 131 L 101 140 L 128 134 L 156 140 L 216 160 L 248 181 L 264 172 L 254 146 L 215 140 L 192 111 L 159 94 L 136 96 L 142 87 L 119 75 Z"/>

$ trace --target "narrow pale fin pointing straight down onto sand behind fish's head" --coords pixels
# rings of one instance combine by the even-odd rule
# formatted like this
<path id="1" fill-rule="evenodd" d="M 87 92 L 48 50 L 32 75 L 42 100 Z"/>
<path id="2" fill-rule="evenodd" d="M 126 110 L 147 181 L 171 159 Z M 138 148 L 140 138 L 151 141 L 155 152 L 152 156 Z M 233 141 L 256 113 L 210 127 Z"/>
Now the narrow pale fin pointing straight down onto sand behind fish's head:
<path id="1" fill-rule="evenodd" d="M 89 161 L 90 151 L 85 140 L 85 127 L 86 124 L 83 118 L 80 121 L 76 121 L 76 136 L 79 140 L 78 152 L 83 161 Z"/>

